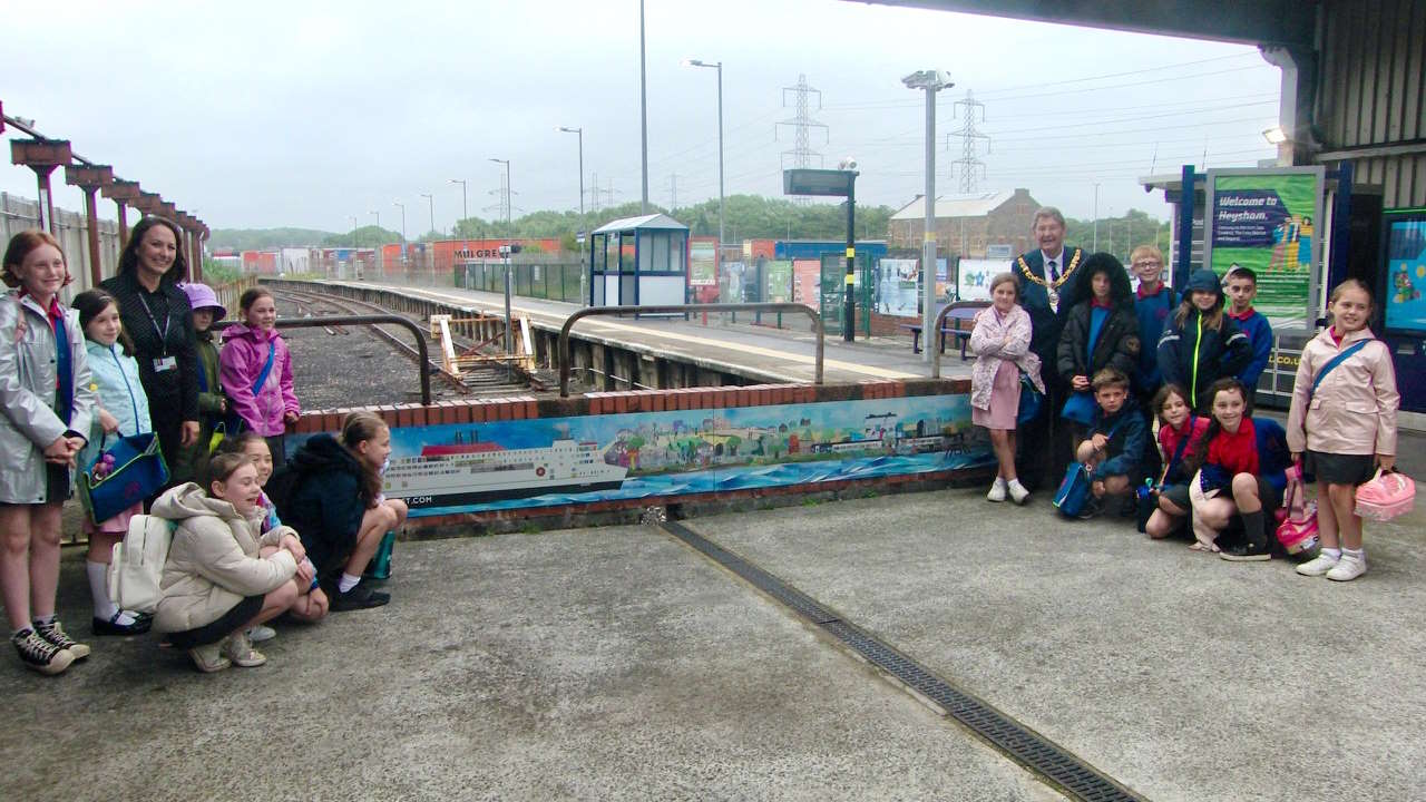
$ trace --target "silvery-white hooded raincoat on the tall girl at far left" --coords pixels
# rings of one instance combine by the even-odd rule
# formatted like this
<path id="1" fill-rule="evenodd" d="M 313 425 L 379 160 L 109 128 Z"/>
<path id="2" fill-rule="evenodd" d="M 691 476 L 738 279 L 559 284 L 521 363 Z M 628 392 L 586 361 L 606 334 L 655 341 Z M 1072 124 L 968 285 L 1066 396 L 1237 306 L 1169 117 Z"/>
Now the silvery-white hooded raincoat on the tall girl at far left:
<path id="1" fill-rule="evenodd" d="M 70 350 L 74 378 L 68 422 L 54 411 L 57 351 L 48 315 L 19 293 L 0 297 L 0 502 L 44 502 L 44 450 L 67 432 L 90 431 L 94 391 L 80 314 L 64 310 L 64 325 L 70 341 L 61 347 Z"/>

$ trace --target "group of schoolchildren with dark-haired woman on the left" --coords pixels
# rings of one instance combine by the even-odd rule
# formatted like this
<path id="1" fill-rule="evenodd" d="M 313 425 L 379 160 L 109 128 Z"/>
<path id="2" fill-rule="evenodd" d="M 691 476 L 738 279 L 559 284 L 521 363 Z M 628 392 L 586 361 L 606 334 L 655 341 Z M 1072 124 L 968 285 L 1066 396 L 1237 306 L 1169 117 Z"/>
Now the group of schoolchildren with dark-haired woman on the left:
<path id="1" fill-rule="evenodd" d="M 185 265 L 163 247 L 177 233 L 167 224 L 141 228 L 125 245 L 121 271 L 138 271 L 151 291 L 177 284 Z M 70 275 L 50 234 L 13 237 L 3 278 L 11 290 L 0 297 L 0 592 L 20 661 L 53 675 L 91 651 L 54 612 L 61 505 L 77 472 L 103 461 L 110 438 L 164 424 L 150 410 L 153 382 L 180 381 L 183 371 L 140 370 L 124 305 L 110 291 L 80 293 L 70 308 L 60 303 Z M 227 327 L 220 350 L 212 324 L 227 310 L 204 284 L 178 287 L 187 308 L 170 310 L 163 327 L 153 314 L 147 320 L 163 334 L 170 321 L 193 321 L 201 425 L 170 465 L 171 475 L 191 481 L 106 521 L 84 521 L 93 634 L 153 628 L 204 672 L 262 665 L 252 644 L 275 636 L 272 619 L 315 622 L 328 611 L 389 601 L 361 575 L 406 514 L 382 495 L 391 434 L 379 417 L 354 412 L 339 438 L 315 435 L 287 461 L 284 431 L 298 404 L 271 293 L 242 294 L 242 323 Z M 153 614 L 121 609 L 107 582 L 114 544 L 145 508 L 173 524 Z"/>

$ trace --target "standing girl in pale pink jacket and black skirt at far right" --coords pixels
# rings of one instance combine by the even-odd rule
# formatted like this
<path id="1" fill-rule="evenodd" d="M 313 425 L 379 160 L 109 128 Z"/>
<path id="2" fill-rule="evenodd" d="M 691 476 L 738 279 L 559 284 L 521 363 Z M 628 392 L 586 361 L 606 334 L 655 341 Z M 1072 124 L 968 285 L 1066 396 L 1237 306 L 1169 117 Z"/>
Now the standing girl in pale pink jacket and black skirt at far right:
<path id="1" fill-rule="evenodd" d="M 1372 293 L 1348 278 L 1332 291 L 1332 325 L 1308 341 L 1288 412 L 1288 448 L 1318 478 L 1320 554 L 1298 574 L 1339 582 L 1366 574 L 1356 487 L 1396 464 L 1396 372 L 1392 352 L 1366 328 Z M 1330 372 L 1333 358 L 1350 354 Z M 1313 384 L 1316 388 L 1313 390 Z"/>

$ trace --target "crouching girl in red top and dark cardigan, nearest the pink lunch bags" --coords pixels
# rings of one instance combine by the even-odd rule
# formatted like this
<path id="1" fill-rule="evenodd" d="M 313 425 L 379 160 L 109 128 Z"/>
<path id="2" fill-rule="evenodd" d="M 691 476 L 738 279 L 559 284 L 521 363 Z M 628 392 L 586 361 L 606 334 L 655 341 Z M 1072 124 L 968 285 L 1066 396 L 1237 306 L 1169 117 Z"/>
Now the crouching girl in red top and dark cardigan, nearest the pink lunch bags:
<path id="1" fill-rule="evenodd" d="M 1259 478 L 1258 434 L 1252 421 L 1252 402 L 1242 382 L 1221 378 L 1209 388 L 1214 420 L 1195 450 L 1199 465 L 1199 489 L 1194 494 L 1194 535 L 1196 551 L 1219 551 L 1214 541 L 1228 527 L 1233 512 L 1242 517 L 1245 539 L 1219 557 L 1232 561 L 1268 559 L 1268 528 L 1263 501 L 1276 504 L 1272 485 Z M 1192 484 L 1191 484 L 1191 488 Z"/>

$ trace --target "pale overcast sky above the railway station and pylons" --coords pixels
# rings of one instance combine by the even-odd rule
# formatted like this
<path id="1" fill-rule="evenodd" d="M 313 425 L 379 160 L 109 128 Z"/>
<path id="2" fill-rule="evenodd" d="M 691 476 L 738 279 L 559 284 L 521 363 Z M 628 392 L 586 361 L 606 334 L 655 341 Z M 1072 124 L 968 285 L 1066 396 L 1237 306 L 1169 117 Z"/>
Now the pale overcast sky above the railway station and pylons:
<path id="1" fill-rule="evenodd" d="M 1279 71 L 1255 47 L 1074 29 L 841 0 L 649 0 L 649 200 L 717 197 L 717 84 L 686 57 L 722 60 L 726 193 L 781 194 L 799 74 L 821 90 L 811 147 L 853 156 L 857 200 L 900 207 L 924 188 L 924 93 L 947 70 L 937 194 L 954 193 L 945 134 L 971 90 L 990 136 L 987 190 L 1025 187 L 1074 217 L 1145 208 L 1152 168 L 1253 166 L 1275 153 Z M 347 231 L 379 211 L 411 235 L 461 211 L 493 217 L 509 158 L 516 217 L 578 208 L 585 184 L 639 200 L 637 0 L 424 3 L 9 3 L 0 9 L 7 116 L 68 138 L 214 228 Z M 784 103 L 786 101 L 786 103 Z M 7 130 L 4 137 L 17 131 Z M 56 173 L 56 200 L 83 208 Z M 0 190 L 33 197 L 30 170 L 0 164 Z M 589 201 L 586 200 L 586 204 Z M 491 207 L 491 208 L 486 208 Z M 101 204 L 113 217 L 114 205 Z"/>

